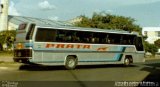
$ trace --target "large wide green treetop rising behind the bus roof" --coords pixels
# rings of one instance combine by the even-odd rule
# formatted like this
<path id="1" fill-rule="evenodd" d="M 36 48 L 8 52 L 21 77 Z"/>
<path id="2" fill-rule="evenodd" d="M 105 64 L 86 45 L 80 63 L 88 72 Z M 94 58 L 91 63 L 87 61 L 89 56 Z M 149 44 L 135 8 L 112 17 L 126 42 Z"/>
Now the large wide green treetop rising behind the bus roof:
<path id="1" fill-rule="evenodd" d="M 122 29 L 125 31 L 141 31 L 141 27 L 134 24 L 135 20 L 130 17 L 111 15 L 106 13 L 94 13 L 92 18 L 88 18 L 84 15 L 80 22 L 75 25 L 79 27 L 91 27 L 101 29 Z"/>

